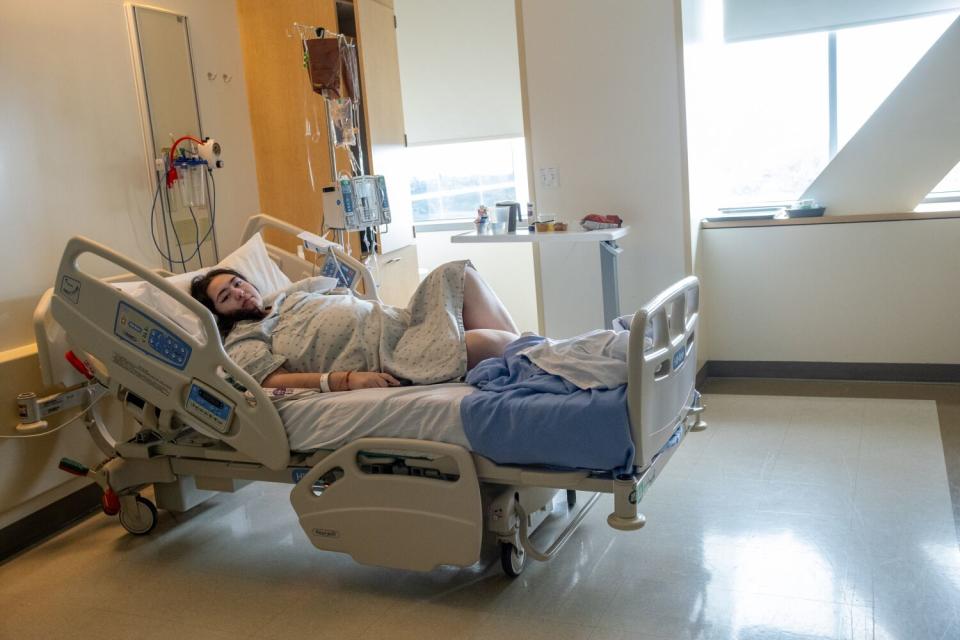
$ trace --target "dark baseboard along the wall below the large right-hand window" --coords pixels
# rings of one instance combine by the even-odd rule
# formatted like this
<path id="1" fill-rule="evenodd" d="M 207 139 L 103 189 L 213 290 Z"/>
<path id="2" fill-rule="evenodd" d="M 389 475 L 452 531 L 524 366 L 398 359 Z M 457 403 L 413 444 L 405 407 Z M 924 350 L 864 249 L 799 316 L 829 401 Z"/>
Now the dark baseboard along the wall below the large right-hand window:
<path id="1" fill-rule="evenodd" d="M 886 362 L 763 362 L 710 360 L 706 378 L 789 378 L 806 380 L 867 380 L 871 382 L 960 383 L 960 364 Z M 700 384 L 700 375 L 697 375 Z"/>

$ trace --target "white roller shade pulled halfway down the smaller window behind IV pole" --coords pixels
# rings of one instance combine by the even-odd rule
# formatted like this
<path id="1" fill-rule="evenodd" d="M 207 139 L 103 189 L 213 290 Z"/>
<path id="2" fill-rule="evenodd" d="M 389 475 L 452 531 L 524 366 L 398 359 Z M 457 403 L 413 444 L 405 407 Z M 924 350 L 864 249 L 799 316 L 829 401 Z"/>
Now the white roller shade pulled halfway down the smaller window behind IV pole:
<path id="1" fill-rule="evenodd" d="M 408 144 L 523 135 L 514 0 L 396 0 L 395 10 Z"/>

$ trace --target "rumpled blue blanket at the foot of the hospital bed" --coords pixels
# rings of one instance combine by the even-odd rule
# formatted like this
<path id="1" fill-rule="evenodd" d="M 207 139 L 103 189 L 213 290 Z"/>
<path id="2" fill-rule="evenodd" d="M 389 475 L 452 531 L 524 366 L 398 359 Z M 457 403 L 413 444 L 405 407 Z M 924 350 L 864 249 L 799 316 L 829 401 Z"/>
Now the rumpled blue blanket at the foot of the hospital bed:
<path id="1" fill-rule="evenodd" d="M 460 402 L 473 451 L 499 464 L 627 471 L 633 466 L 626 386 L 583 390 L 517 352 L 543 338 L 512 342 L 467 374 L 479 391 Z"/>

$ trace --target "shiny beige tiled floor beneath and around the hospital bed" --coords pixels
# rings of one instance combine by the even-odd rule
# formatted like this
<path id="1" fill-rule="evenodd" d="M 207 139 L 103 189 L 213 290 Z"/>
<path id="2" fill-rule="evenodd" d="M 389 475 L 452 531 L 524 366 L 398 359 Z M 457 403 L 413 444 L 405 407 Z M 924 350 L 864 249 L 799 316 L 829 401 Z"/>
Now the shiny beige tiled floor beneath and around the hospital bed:
<path id="1" fill-rule="evenodd" d="M 935 402 L 706 397 L 621 533 L 604 497 L 560 556 L 418 574 L 313 549 L 288 486 L 150 536 L 94 516 L 0 565 L 0 638 L 960 638 Z"/>

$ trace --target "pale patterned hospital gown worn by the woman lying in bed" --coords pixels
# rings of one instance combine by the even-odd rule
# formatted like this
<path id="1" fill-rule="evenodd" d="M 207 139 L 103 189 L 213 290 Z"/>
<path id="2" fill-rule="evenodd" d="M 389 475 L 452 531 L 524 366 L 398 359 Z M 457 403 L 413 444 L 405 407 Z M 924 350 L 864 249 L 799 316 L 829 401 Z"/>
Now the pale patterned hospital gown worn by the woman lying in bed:
<path id="1" fill-rule="evenodd" d="M 257 382 L 280 366 L 294 373 L 383 371 L 413 384 L 457 380 L 467 371 L 468 264 L 434 269 L 405 309 L 294 285 L 277 294 L 266 318 L 237 323 L 224 348 Z"/>

